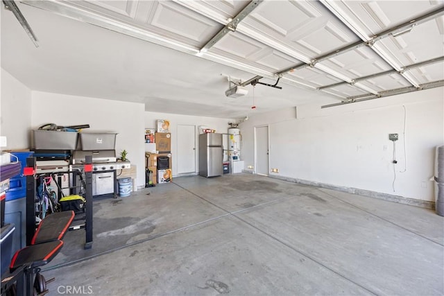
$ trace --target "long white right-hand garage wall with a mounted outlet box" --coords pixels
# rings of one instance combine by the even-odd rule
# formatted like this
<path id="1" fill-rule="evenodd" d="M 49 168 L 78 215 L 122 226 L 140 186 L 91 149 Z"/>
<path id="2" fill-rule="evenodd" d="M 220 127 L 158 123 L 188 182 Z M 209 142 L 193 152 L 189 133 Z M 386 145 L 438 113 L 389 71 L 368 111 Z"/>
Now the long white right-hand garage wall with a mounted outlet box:
<path id="1" fill-rule="evenodd" d="M 434 148 L 444 144 L 443 90 L 325 109 L 300 106 L 298 119 L 294 109 L 250 116 L 240 125 L 243 159 L 246 167 L 254 164 L 254 127 L 268 125 L 270 168 L 279 170 L 271 176 L 434 201 L 429 178 Z M 389 133 L 400 137 L 395 165 Z"/>

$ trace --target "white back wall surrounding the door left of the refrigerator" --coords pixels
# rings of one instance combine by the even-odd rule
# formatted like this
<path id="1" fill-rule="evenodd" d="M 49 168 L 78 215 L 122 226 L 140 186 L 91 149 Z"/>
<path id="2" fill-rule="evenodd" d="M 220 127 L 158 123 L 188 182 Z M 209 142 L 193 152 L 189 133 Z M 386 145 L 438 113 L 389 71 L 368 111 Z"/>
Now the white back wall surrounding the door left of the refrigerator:
<path id="1" fill-rule="evenodd" d="M 157 119 L 167 119 L 170 122 L 171 131 L 171 154 L 173 155 L 173 177 L 177 175 L 177 151 L 180 149 L 178 147 L 177 141 L 177 130 L 178 125 L 194 125 L 196 127 L 196 173 L 198 173 L 198 128 L 199 126 L 206 126 L 207 128 L 216 130 L 220 134 L 226 134 L 228 132 L 228 123 L 233 122 L 232 119 L 220 119 L 205 116 L 189 116 L 180 114 L 169 114 L 169 113 L 157 113 L 157 112 L 145 112 L 145 127 L 155 128 Z"/>

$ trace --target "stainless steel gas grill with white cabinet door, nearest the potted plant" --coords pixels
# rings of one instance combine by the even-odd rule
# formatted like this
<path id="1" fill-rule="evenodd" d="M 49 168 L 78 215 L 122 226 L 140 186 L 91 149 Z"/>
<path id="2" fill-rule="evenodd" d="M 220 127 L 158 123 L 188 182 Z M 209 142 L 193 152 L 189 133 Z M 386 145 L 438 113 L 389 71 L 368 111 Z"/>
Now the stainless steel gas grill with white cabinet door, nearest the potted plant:
<path id="1" fill-rule="evenodd" d="M 82 169 L 92 156 L 92 196 L 117 197 L 117 170 L 130 168 L 130 162 L 117 162 L 116 150 L 74 150 L 72 169 Z M 76 181 L 74 181 L 76 182 Z"/>

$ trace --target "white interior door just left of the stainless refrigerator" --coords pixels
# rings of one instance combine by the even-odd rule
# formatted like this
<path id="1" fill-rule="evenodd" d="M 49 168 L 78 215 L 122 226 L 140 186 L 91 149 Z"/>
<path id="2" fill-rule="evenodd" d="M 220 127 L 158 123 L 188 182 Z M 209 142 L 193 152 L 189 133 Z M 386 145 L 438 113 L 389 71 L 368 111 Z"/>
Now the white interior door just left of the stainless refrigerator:
<path id="1" fill-rule="evenodd" d="M 196 173 L 196 127 L 178 125 L 178 174 Z"/>

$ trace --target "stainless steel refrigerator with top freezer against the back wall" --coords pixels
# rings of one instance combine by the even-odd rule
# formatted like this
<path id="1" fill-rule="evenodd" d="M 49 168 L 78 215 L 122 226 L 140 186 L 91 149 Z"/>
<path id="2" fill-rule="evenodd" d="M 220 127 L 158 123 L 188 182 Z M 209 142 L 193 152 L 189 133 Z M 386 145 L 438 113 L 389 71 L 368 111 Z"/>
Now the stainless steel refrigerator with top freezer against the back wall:
<path id="1" fill-rule="evenodd" d="M 199 134 L 199 175 L 223 175 L 222 134 Z"/>

